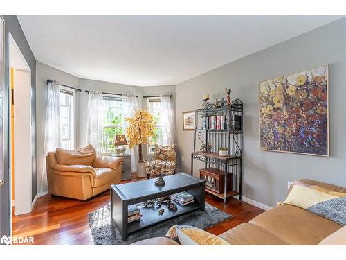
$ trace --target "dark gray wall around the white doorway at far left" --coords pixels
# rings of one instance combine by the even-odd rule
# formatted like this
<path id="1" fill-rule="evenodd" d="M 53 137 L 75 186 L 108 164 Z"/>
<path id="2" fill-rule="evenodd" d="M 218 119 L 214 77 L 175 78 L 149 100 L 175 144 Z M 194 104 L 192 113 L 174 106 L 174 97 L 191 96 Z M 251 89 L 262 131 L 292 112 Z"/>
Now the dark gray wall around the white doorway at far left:
<path id="1" fill-rule="evenodd" d="M 4 160 L 3 167 L 5 173 L 5 183 L 0 187 L 0 237 L 3 234 L 10 233 L 10 187 L 9 187 L 9 162 L 10 157 L 8 155 L 9 151 L 9 130 L 10 130 L 10 96 L 8 93 L 9 89 L 9 71 L 8 71 L 8 33 L 11 33 L 12 37 L 15 39 L 15 42 L 19 46 L 21 53 L 23 53 L 26 62 L 28 62 L 31 69 L 31 91 L 33 94 L 31 101 L 31 111 L 33 114 L 34 120 L 34 128 L 32 139 L 32 148 L 33 148 L 33 193 L 32 199 L 35 198 L 37 193 L 36 187 L 36 133 L 35 133 L 35 125 L 36 125 L 36 104 L 35 104 L 35 91 L 36 91 L 36 60 L 32 51 L 30 50 L 30 46 L 26 41 L 26 37 L 24 36 L 23 31 L 21 30 L 21 26 L 18 22 L 18 19 L 15 15 L 3 15 L 5 20 L 5 57 L 4 57 L 4 98 L 3 98 L 3 116 L 4 116 Z"/>

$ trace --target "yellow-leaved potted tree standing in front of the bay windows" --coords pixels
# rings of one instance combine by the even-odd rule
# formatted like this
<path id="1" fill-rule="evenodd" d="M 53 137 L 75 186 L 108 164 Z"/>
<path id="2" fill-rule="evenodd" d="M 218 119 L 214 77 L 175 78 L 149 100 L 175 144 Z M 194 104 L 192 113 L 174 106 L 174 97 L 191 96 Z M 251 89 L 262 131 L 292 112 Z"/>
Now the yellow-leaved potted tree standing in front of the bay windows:
<path id="1" fill-rule="evenodd" d="M 138 145 L 138 177 L 146 177 L 146 161 L 143 159 L 142 145 L 149 144 L 150 137 L 154 136 L 154 117 L 147 110 L 136 110 L 134 117 L 125 119 L 129 148 Z"/>

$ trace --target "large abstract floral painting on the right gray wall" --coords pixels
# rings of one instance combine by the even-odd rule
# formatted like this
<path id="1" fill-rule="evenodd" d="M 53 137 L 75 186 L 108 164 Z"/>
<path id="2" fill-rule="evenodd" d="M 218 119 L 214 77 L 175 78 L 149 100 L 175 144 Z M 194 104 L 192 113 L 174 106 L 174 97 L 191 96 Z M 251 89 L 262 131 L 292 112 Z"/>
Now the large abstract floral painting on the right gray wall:
<path id="1" fill-rule="evenodd" d="M 329 156 L 328 66 L 260 83 L 262 150 Z"/>

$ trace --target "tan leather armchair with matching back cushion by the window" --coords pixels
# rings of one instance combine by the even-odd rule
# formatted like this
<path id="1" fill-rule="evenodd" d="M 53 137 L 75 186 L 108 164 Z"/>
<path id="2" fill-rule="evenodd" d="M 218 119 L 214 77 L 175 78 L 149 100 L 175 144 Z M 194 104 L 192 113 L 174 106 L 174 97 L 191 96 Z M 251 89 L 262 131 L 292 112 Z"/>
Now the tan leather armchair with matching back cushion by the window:
<path id="1" fill-rule="evenodd" d="M 91 145 L 78 150 L 57 148 L 46 156 L 48 191 L 87 200 L 120 183 L 122 163 L 122 157 L 96 156 Z"/>

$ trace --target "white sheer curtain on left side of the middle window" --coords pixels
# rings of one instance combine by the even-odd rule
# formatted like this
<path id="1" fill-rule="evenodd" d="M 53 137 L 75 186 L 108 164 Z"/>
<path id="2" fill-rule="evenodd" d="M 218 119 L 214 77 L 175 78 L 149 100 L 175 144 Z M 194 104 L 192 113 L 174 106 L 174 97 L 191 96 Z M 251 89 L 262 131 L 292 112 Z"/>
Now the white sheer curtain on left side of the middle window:
<path id="1" fill-rule="evenodd" d="M 86 143 L 92 144 L 98 155 L 102 155 L 103 140 L 103 96 L 102 92 L 89 92 L 88 118 L 86 120 Z"/>

